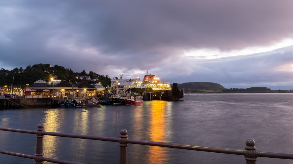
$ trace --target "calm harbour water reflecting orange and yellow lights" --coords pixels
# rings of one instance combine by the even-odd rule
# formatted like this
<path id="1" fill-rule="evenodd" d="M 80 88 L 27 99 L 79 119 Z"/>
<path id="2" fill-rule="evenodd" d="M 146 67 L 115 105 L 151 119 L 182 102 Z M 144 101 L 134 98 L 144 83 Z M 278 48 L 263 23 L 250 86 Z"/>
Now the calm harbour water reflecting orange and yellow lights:
<path id="1" fill-rule="evenodd" d="M 254 139 L 258 151 L 293 153 L 293 94 L 185 95 L 179 101 L 85 108 L 0 110 L 0 127 L 119 137 L 208 147 L 244 149 Z M 33 134 L 0 131 L 0 149 L 35 154 Z M 44 156 L 80 163 L 119 163 L 116 142 L 45 136 Z M 144 145 L 128 146 L 128 163 L 246 163 L 244 156 Z M 0 163 L 34 163 L 0 154 Z M 293 163 L 259 157 L 258 164 Z"/>

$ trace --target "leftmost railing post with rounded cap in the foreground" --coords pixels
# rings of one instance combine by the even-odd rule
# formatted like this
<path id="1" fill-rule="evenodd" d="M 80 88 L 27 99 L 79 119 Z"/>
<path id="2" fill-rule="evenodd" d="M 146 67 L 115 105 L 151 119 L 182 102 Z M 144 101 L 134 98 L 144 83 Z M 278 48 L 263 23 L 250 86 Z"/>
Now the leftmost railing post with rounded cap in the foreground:
<path id="1" fill-rule="evenodd" d="M 38 124 L 37 129 L 37 147 L 36 147 L 36 154 L 35 154 L 35 164 L 42 164 L 42 157 L 44 155 L 43 153 L 43 138 L 44 135 L 42 132 L 44 131 L 44 125 Z"/>

